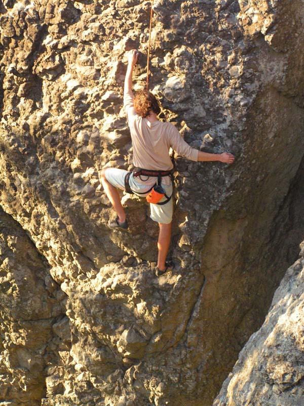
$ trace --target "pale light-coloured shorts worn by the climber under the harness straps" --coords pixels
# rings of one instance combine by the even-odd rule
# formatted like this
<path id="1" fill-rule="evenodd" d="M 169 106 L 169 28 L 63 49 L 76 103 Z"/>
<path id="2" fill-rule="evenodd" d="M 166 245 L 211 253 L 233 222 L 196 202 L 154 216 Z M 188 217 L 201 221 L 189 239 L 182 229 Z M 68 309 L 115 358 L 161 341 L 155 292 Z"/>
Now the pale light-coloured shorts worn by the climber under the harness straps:
<path id="1" fill-rule="evenodd" d="M 111 168 L 108 167 L 105 170 L 105 178 L 106 180 L 113 186 L 126 190 L 125 189 L 125 177 L 128 174 L 128 171 L 119 168 Z M 141 179 L 140 179 L 141 178 Z M 149 192 L 145 193 L 147 190 L 151 188 L 151 186 L 155 185 L 157 182 L 157 178 L 155 177 L 136 177 L 134 178 L 133 175 L 129 178 L 130 187 L 133 190 L 134 194 L 139 197 L 145 197 L 148 195 Z M 169 176 L 162 178 L 162 187 L 166 191 L 167 196 L 171 196 L 173 192 L 172 181 Z M 138 193 L 143 194 L 138 194 Z M 165 201 L 166 197 L 164 196 L 160 202 Z M 150 203 L 150 218 L 158 223 L 169 224 L 172 221 L 173 216 L 173 199 L 171 198 L 165 205 L 157 205 Z"/>

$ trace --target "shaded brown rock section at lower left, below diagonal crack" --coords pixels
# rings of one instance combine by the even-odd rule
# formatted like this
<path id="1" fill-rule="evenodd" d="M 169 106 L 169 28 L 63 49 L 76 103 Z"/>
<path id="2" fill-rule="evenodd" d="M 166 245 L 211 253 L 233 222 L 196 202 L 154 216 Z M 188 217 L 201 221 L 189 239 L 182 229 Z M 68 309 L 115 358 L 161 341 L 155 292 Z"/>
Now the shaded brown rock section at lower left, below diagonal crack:
<path id="1" fill-rule="evenodd" d="M 47 365 L 58 357 L 55 329 L 66 295 L 25 231 L 2 210 L 0 225 L 1 400 L 40 405 Z"/>

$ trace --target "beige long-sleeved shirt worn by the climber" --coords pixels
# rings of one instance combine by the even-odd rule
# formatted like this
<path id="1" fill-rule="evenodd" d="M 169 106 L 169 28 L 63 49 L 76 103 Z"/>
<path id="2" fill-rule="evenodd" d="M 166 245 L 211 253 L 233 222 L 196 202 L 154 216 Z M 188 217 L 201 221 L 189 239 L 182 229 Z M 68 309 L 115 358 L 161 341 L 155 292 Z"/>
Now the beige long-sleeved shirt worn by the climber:
<path id="1" fill-rule="evenodd" d="M 173 124 L 161 121 L 150 123 L 147 118 L 136 113 L 132 91 L 124 94 L 124 108 L 131 132 L 134 166 L 151 170 L 171 170 L 173 164 L 169 156 L 170 147 L 178 155 L 192 161 L 198 160 L 199 150 L 189 146 Z"/>

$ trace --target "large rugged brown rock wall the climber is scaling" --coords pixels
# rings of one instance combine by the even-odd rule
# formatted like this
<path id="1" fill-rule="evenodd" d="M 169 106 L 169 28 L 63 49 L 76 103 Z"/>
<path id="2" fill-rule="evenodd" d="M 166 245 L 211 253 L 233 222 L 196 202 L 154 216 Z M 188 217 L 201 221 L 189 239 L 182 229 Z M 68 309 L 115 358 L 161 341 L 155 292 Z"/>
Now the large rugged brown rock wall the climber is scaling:
<path id="1" fill-rule="evenodd" d="M 147 206 L 124 195 L 130 232 L 110 230 L 99 180 L 106 163 L 132 167 L 122 87 L 134 47 L 134 89 L 145 86 L 150 2 L 0 5 L 0 204 L 4 227 L 31 240 L 12 249 L 1 231 L 6 405 L 209 406 L 298 255 L 302 2 L 154 8 L 161 119 L 195 148 L 236 155 L 231 167 L 175 156 L 176 266 L 159 279 Z"/>

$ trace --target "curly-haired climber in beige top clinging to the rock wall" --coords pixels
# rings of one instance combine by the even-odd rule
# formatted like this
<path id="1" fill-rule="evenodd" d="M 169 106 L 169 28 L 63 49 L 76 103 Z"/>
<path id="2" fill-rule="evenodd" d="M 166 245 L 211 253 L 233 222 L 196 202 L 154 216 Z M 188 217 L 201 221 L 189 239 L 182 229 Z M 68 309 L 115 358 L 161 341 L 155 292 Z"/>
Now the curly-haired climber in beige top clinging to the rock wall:
<path id="1" fill-rule="evenodd" d="M 139 91 L 133 95 L 132 77 L 138 54 L 136 49 L 129 51 L 124 85 L 124 109 L 130 127 L 135 170 L 128 172 L 104 167 L 100 177 L 104 191 L 117 213 L 116 219 L 111 221 L 109 226 L 120 230 L 126 230 L 128 223 L 117 188 L 140 197 L 151 193 L 156 183 L 163 188 L 165 194 L 161 200 L 157 204 L 150 203 L 150 217 L 159 224 L 156 275 L 160 276 L 174 267 L 172 261 L 166 261 L 173 215 L 173 185 L 170 176 L 173 163 L 169 148 L 172 147 L 178 155 L 193 161 L 220 161 L 231 164 L 235 158 L 228 152 L 211 154 L 192 148 L 183 140 L 173 124 L 158 120 L 161 109 L 153 93 Z"/>

